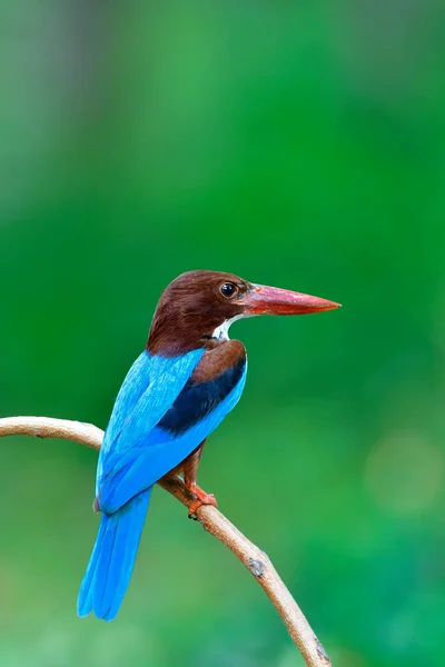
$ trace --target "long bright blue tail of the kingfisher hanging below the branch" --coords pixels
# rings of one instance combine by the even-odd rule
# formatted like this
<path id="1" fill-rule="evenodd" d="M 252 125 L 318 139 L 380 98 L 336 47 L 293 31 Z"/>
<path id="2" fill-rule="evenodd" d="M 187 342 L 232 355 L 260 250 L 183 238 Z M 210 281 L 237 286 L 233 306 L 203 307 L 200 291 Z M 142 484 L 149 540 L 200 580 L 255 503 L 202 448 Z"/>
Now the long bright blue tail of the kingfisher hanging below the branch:
<path id="1" fill-rule="evenodd" d="M 102 515 L 77 600 L 79 616 L 116 618 L 130 583 L 151 487 L 112 515 Z"/>

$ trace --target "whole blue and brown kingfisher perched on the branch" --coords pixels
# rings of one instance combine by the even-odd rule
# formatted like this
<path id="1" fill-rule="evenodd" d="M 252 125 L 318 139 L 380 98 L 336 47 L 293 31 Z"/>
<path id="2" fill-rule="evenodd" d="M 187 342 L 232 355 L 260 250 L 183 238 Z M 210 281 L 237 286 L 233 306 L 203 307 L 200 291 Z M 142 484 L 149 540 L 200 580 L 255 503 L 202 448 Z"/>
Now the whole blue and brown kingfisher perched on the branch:
<path id="1" fill-rule="evenodd" d="M 247 356 L 228 337 L 236 320 L 307 315 L 339 303 L 257 285 L 234 273 L 195 270 L 161 293 L 147 346 L 128 371 L 105 431 L 93 509 L 101 512 L 78 596 L 78 616 L 112 620 L 130 583 L 154 485 L 184 476 L 195 500 L 216 506 L 197 484 L 208 436 L 238 402 Z"/>

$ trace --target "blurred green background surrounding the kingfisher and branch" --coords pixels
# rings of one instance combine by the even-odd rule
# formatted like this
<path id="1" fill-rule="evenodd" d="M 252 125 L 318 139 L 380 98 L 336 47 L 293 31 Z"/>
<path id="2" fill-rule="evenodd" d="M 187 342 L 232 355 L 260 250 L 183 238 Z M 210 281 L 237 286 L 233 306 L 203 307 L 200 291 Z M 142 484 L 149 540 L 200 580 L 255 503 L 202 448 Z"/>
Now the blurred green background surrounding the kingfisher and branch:
<path id="1" fill-rule="evenodd" d="M 200 482 L 340 667 L 443 665 L 439 0 L 0 10 L 0 414 L 105 427 L 181 271 L 340 301 L 236 323 Z M 300 666 L 260 588 L 157 489 L 118 619 L 76 617 L 96 454 L 0 447 L 4 667 Z"/>

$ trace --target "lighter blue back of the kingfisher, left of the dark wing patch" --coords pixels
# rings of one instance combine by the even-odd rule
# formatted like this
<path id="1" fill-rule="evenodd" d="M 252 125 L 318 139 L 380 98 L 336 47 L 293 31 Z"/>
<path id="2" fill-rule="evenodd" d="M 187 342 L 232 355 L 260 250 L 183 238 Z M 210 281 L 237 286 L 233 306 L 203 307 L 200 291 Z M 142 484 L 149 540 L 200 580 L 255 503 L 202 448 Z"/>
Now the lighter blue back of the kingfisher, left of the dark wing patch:
<path id="1" fill-rule="evenodd" d="M 116 477 L 126 460 L 134 459 L 138 448 L 175 402 L 202 350 L 181 357 L 166 358 L 144 351 L 127 374 L 119 390 L 100 448 L 96 492 L 106 479 Z"/>

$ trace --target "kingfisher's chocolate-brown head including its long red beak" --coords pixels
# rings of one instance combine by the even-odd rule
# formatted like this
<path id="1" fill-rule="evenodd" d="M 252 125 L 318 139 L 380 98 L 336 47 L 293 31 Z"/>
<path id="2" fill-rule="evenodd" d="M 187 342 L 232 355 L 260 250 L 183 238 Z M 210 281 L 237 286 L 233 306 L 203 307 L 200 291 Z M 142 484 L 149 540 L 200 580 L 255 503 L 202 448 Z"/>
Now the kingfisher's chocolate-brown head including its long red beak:
<path id="1" fill-rule="evenodd" d="M 147 348 L 175 356 L 227 338 L 229 326 L 256 315 L 309 315 L 339 303 L 276 287 L 248 282 L 234 273 L 188 271 L 164 290 L 152 320 Z"/>

